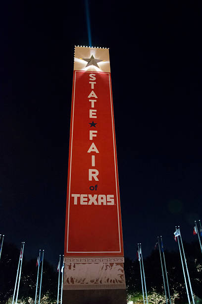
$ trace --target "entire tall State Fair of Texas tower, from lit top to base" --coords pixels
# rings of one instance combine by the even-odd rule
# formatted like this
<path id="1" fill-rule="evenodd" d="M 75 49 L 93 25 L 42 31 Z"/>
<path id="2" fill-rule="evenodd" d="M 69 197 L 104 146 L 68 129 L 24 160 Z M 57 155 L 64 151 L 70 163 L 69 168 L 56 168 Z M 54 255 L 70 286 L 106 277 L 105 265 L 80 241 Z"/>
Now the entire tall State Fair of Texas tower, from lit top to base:
<path id="1" fill-rule="evenodd" d="M 125 304 L 123 263 L 109 51 L 75 47 L 63 304 Z"/>

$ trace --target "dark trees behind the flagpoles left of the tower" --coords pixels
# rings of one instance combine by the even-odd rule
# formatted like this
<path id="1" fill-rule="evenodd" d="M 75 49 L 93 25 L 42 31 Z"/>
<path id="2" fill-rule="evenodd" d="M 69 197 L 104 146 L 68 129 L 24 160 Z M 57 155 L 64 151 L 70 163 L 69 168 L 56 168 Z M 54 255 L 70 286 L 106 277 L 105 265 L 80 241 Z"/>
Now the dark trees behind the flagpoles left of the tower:
<path id="1" fill-rule="evenodd" d="M 3 250 L 0 260 L 0 303 L 6 304 L 13 297 L 15 279 L 20 251 L 13 244 L 3 243 Z M 41 267 L 40 267 L 41 275 Z M 20 280 L 19 297 L 21 303 L 31 304 L 35 299 L 37 282 L 36 260 L 26 260 L 23 256 L 22 274 Z M 40 283 L 40 278 L 39 278 Z M 39 287 L 39 285 L 38 285 Z M 39 294 L 39 292 L 38 292 Z M 53 267 L 44 260 L 41 303 L 53 304 L 57 294 L 57 275 Z M 45 301 L 46 299 L 46 301 Z M 29 301 L 29 302 L 28 302 Z M 12 303 L 12 300 L 11 300 Z"/>

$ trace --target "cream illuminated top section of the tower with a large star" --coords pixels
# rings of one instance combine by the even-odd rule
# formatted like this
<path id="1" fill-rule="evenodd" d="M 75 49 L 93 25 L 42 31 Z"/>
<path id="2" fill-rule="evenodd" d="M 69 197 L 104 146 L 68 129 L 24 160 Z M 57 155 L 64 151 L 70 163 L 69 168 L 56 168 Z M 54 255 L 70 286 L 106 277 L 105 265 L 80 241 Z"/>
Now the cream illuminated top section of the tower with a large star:
<path id="1" fill-rule="evenodd" d="M 75 46 L 74 71 L 110 73 L 109 49 Z"/>

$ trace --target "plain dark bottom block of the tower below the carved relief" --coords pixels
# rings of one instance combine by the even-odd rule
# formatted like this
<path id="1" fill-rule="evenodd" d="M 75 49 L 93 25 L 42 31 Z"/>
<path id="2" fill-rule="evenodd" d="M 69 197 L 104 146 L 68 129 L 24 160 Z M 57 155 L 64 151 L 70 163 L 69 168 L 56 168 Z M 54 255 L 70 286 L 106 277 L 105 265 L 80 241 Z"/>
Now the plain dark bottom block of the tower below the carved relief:
<path id="1" fill-rule="evenodd" d="M 125 289 L 64 290 L 62 304 L 126 304 Z"/>

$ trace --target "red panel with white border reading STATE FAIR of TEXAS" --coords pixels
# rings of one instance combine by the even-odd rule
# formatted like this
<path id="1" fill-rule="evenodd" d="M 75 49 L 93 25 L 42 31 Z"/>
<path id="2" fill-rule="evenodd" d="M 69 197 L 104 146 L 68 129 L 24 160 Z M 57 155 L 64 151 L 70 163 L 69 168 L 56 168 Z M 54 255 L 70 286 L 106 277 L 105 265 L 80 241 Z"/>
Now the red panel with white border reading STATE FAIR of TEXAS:
<path id="1" fill-rule="evenodd" d="M 74 71 L 65 256 L 123 256 L 110 73 Z"/>

